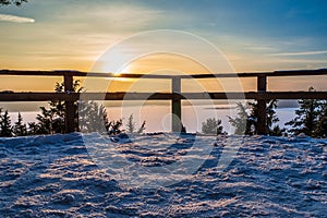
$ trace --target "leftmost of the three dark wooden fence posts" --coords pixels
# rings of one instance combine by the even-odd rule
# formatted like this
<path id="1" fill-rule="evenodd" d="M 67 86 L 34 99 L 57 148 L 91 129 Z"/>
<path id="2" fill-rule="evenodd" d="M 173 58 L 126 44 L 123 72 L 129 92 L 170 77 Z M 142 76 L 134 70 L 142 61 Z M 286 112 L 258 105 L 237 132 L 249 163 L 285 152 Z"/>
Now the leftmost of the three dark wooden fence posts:
<path id="1" fill-rule="evenodd" d="M 64 92 L 70 94 L 73 93 L 73 75 L 65 73 L 63 76 Z M 65 105 L 65 133 L 71 133 L 75 131 L 75 108 L 74 101 L 66 99 Z"/>

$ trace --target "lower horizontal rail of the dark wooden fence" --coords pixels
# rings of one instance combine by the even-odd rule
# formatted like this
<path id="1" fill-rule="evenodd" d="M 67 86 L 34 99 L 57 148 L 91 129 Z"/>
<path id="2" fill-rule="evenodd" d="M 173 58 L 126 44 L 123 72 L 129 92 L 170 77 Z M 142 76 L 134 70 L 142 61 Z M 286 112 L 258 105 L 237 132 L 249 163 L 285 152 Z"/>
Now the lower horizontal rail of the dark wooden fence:
<path id="1" fill-rule="evenodd" d="M 267 92 L 267 93 L 0 93 L 0 101 L 48 100 L 171 100 L 180 99 L 327 99 L 327 92 Z"/>

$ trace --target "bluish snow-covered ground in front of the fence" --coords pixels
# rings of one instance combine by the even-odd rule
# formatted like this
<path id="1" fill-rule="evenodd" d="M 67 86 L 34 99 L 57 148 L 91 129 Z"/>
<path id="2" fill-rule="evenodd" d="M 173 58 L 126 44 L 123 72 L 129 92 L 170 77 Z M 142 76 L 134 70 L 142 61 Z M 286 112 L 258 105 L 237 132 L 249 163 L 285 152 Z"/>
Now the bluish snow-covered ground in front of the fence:
<path id="1" fill-rule="evenodd" d="M 209 154 L 192 152 L 194 144 Z M 327 140 L 310 137 L 0 138 L 0 217 L 326 217 L 326 152 Z M 190 153 L 201 168 L 162 186 L 146 186 L 162 177 L 142 170 L 129 185 L 105 158 L 164 169 Z"/>

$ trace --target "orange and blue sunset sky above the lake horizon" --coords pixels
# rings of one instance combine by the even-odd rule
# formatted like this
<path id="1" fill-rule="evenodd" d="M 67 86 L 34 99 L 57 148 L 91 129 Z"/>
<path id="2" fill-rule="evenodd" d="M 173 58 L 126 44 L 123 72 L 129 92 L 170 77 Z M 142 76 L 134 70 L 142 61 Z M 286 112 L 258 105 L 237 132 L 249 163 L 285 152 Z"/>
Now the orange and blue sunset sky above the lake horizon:
<path id="1" fill-rule="evenodd" d="M 87 72 L 119 41 L 157 29 L 207 40 L 237 72 L 322 69 L 327 66 L 326 9 L 324 0 L 29 0 L 19 8 L 0 7 L 0 69 Z M 126 48 L 117 57 L 154 41 L 138 41 L 138 47 Z M 162 55 L 142 57 L 122 71 L 162 69 L 210 73 L 194 60 Z M 310 80 L 317 89 L 325 88 L 325 78 Z M 51 78 L 3 76 L 0 89 L 51 90 L 53 84 Z M 125 81 L 113 89 L 130 85 Z M 255 89 L 254 81 L 243 85 Z M 278 78 L 270 81 L 269 89 L 307 89 L 310 85 L 307 78 Z M 207 89 L 213 87 L 216 85 L 206 84 Z"/>

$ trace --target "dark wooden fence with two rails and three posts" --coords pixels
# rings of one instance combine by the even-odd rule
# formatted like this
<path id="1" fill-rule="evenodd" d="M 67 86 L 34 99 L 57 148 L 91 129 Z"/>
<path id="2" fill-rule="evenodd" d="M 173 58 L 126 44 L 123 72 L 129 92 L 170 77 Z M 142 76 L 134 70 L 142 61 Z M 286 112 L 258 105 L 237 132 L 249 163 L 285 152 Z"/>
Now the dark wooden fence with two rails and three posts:
<path id="1" fill-rule="evenodd" d="M 182 80 L 194 78 L 222 78 L 222 77 L 255 77 L 257 80 L 256 92 L 244 93 L 205 93 L 211 99 L 255 99 L 258 104 L 258 134 L 266 134 L 266 102 L 270 99 L 327 99 L 327 92 L 268 92 L 268 77 L 284 76 L 315 76 L 327 75 L 327 69 L 320 70 L 296 70 L 296 71 L 275 71 L 261 73 L 220 73 L 220 74 L 193 74 L 193 75 L 154 75 L 154 74 L 110 74 L 110 73 L 85 73 L 80 71 L 13 71 L 1 70 L 1 75 L 20 76 L 63 76 L 64 93 L 37 93 L 37 92 L 1 92 L 0 101 L 65 101 L 65 131 L 74 130 L 74 101 L 80 99 L 77 93 L 73 93 L 74 76 L 80 77 L 126 77 L 126 78 L 165 78 L 171 80 L 171 93 L 84 93 L 83 99 L 89 100 L 124 100 L 128 95 L 129 100 L 171 100 L 171 113 L 178 119 L 172 119 L 172 131 L 181 131 L 181 101 L 183 99 L 204 99 L 204 93 L 181 93 Z M 105 97 L 104 97 L 105 96 Z"/>

